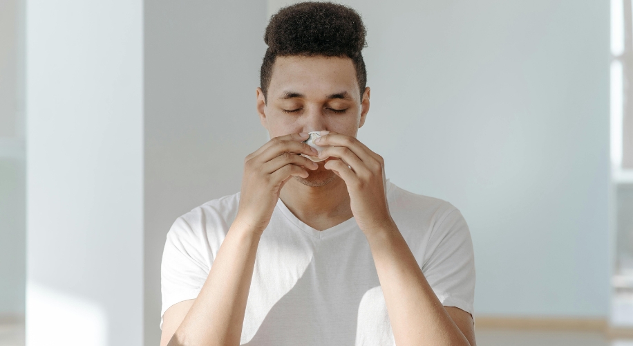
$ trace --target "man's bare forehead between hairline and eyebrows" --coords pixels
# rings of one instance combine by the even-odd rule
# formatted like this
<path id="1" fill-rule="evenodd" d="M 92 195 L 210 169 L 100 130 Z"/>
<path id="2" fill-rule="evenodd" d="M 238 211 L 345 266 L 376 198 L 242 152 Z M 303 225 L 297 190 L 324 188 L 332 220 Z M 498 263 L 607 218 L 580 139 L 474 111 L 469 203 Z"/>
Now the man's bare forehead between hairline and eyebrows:
<path id="1" fill-rule="evenodd" d="M 268 93 L 277 98 L 289 91 L 321 97 L 347 91 L 359 95 L 356 69 L 349 57 L 276 57 Z"/>

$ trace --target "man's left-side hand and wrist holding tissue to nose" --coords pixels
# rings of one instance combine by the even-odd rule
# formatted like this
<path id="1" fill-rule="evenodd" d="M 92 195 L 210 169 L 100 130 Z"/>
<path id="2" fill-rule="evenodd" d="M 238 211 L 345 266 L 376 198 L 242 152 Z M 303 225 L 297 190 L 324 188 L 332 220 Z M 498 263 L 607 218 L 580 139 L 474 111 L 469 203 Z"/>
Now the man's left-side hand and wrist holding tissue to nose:
<path id="1" fill-rule="evenodd" d="M 263 232 L 279 199 L 279 192 L 292 176 L 308 178 L 308 171 L 319 165 L 298 154 L 317 156 L 317 150 L 303 140 L 308 134 L 289 134 L 272 138 L 256 152 L 246 156 L 236 221 L 256 232 Z"/>

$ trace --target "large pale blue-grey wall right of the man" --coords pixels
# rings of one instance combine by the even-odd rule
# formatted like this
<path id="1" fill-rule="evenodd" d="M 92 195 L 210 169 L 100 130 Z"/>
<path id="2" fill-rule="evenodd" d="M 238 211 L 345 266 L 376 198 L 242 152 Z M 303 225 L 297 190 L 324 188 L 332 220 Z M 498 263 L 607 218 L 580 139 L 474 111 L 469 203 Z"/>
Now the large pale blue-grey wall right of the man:
<path id="1" fill-rule="evenodd" d="M 368 28 L 359 138 L 462 210 L 475 311 L 607 316 L 609 1 L 345 2 Z"/>

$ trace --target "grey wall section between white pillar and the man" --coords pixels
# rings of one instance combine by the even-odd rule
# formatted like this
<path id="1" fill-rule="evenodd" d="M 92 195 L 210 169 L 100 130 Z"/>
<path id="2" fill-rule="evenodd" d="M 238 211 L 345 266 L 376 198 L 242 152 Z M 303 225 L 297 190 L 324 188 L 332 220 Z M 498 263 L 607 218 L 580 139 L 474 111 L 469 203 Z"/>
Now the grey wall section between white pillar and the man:
<path id="1" fill-rule="evenodd" d="M 240 190 L 263 145 L 255 88 L 265 1 L 145 3 L 145 345 L 160 338 L 160 260 L 176 217 Z"/>

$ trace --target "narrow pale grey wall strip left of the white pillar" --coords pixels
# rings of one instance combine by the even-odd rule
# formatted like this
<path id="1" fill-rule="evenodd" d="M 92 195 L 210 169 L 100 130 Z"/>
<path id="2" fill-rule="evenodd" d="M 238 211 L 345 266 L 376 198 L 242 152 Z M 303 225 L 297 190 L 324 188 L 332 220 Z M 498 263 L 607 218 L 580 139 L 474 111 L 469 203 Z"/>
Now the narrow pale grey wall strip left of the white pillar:
<path id="1" fill-rule="evenodd" d="M 23 2 L 0 1 L 0 320 L 24 314 Z"/>

